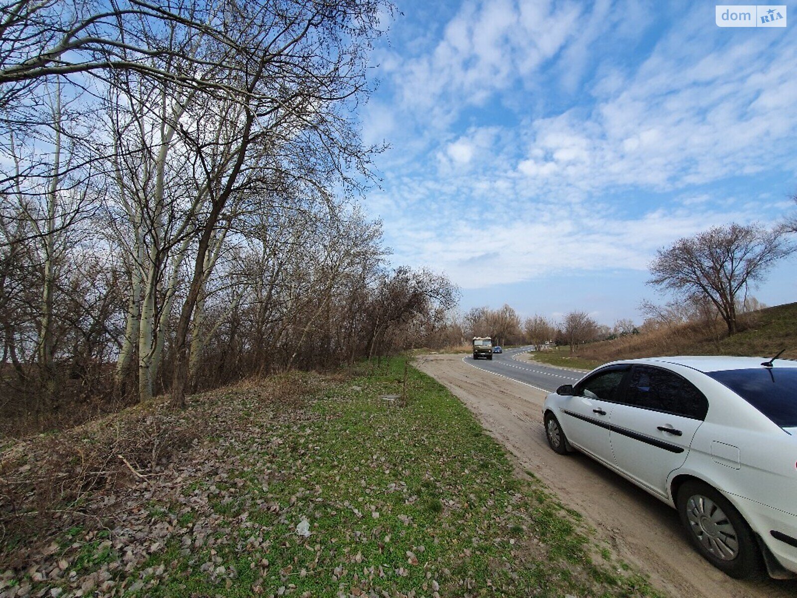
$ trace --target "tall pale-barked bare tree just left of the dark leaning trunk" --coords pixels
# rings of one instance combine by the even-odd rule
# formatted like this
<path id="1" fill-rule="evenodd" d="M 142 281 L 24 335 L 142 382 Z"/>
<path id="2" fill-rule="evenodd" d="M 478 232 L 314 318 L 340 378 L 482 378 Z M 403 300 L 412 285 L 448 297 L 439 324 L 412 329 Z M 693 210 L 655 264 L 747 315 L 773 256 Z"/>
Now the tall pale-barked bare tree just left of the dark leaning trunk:
<path id="1" fill-rule="evenodd" d="M 135 73 L 118 77 L 106 100 L 107 136 L 113 144 L 109 224 L 130 281 L 116 384 L 124 388 L 135 370 L 141 400 L 152 395 L 179 269 L 196 214 L 207 202 L 207 193 L 190 184 L 194 153 L 181 134 L 186 123 L 177 124 L 186 120 L 195 100 L 190 93 L 153 87 Z"/>

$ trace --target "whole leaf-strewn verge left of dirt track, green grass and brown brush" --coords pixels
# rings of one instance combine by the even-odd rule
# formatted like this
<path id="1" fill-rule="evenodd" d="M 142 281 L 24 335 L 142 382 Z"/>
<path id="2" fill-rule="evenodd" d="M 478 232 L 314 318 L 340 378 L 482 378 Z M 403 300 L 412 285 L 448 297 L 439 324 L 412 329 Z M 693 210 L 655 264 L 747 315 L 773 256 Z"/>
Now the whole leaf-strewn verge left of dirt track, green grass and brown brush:
<path id="1" fill-rule="evenodd" d="M 659 596 L 404 364 L 13 441 L 0 595 Z"/>

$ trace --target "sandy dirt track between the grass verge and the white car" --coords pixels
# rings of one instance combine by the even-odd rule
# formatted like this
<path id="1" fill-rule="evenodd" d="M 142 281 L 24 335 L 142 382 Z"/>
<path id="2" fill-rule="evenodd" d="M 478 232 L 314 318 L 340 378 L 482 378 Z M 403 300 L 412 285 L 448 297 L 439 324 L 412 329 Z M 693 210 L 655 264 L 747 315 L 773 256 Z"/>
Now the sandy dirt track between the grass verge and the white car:
<path id="1" fill-rule="evenodd" d="M 583 454 L 554 453 L 545 439 L 542 391 L 473 368 L 461 355 L 426 356 L 416 365 L 457 395 L 521 466 L 583 513 L 618 556 L 648 573 L 656 587 L 671 596 L 797 596 L 797 581 L 732 580 L 692 549 L 674 509 Z"/>

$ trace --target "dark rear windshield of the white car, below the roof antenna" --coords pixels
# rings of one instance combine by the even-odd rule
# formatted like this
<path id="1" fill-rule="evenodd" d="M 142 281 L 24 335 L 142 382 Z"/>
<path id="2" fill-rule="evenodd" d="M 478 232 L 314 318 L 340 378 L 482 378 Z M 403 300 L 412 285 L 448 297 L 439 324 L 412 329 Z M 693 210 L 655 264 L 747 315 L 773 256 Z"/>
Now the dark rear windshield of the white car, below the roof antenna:
<path id="1" fill-rule="evenodd" d="M 797 427 L 797 368 L 706 372 L 780 427 Z"/>

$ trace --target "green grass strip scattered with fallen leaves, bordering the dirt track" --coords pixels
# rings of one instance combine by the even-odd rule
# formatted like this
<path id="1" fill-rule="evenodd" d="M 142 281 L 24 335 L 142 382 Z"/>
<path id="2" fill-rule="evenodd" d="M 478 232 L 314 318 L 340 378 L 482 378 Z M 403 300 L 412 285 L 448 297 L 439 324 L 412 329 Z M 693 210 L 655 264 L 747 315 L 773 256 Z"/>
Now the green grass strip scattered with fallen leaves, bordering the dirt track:
<path id="1" fill-rule="evenodd" d="M 125 596 L 658 596 L 595 545 L 579 513 L 536 478 L 518 478 L 440 384 L 410 368 L 406 406 L 380 398 L 401 394 L 403 372 L 394 359 L 328 384 L 300 416 L 254 419 L 260 442 L 238 448 L 225 482 L 184 486 L 186 496 L 208 490 L 204 510 L 150 506 L 183 529 L 139 568 L 117 568 L 116 587 Z M 304 519 L 308 537 L 296 529 Z M 192 530 L 209 522 L 215 532 L 194 548 Z M 80 555 L 81 569 L 117 556 L 99 536 Z"/>

